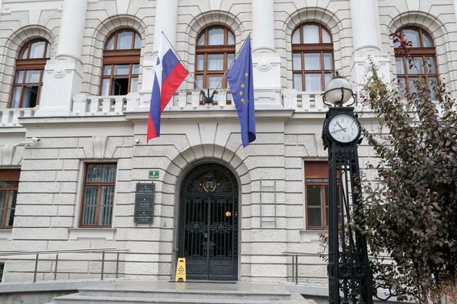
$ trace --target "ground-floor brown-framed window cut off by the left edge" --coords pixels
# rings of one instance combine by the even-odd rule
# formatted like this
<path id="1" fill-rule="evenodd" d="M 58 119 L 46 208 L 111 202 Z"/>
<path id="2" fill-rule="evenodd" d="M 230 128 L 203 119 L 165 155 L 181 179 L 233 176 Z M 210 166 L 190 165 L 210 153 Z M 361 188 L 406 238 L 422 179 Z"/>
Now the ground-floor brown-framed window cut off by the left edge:
<path id="1" fill-rule="evenodd" d="M 0 228 L 10 228 L 15 220 L 20 169 L 0 170 Z"/>

